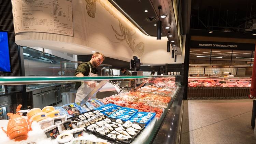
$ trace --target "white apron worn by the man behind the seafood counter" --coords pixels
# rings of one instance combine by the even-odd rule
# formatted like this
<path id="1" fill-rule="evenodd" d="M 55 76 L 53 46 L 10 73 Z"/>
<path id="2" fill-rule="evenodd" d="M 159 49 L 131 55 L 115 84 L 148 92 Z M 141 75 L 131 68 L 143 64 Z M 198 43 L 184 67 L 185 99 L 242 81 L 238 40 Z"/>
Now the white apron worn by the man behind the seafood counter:
<path id="1" fill-rule="evenodd" d="M 90 72 L 88 76 L 97 76 L 97 74 L 91 73 L 91 66 Z M 75 96 L 75 102 L 81 102 L 94 88 L 90 88 L 86 84 L 82 83 L 82 85 L 77 89 L 76 96 Z"/>

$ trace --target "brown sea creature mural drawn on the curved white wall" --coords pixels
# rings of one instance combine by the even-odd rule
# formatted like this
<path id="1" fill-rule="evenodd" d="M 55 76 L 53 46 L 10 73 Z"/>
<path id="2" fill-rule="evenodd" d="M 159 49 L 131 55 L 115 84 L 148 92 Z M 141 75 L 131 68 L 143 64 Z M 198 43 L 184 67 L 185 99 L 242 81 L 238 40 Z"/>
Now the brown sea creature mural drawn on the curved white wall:
<path id="1" fill-rule="evenodd" d="M 87 2 L 86 10 L 90 17 L 95 18 L 96 1 L 98 1 L 105 8 L 106 11 L 108 11 L 112 16 L 114 16 L 114 18 L 116 18 L 119 21 L 120 33 L 117 32 L 117 30 L 111 25 L 111 27 L 115 33 L 115 38 L 117 40 L 117 42 L 114 42 L 114 43 L 119 43 L 119 42 L 125 41 L 135 55 L 142 56 L 142 54 L 144 52 L 144 43 L 139 42 L 138 44 L 136 44 L 136 39 L 134 39 L 132 37 L 136 33 L 136 31 L 134 29 L 129 29 L 129 28 L 125 27 L 120 22 L 120 19 L 118 18 L 118 16 L 116 16 L 116 14 L 113 11 L 111 11 L 111 9 L 108 7 L 108 5 L 106 5 L 106 2 L 108 2 L 107 0 L 105 2 L 103 2 L 102 0 L 85 0 L 85 1 Z M 111 42 L 113 42 L 113 41 L 111 41 Z"/>

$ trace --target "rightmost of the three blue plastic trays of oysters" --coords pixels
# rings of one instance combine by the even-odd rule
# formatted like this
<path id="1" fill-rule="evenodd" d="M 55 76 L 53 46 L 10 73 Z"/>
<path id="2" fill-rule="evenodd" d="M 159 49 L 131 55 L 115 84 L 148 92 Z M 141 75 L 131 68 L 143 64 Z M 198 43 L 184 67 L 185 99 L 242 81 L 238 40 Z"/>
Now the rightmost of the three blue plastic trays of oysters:
<path id="1" fill-rule="evenodd" d="M 150 113 L 150 112 L 138 112 L 136 115 L 134 115 L 130 121 L 131 122 L 137 122 L 140 124 L 145 124 L 147 126 L 150 121 L 156 116 L 156 113 Z M 147 120 L 146 120 L 147 119 Z"/>

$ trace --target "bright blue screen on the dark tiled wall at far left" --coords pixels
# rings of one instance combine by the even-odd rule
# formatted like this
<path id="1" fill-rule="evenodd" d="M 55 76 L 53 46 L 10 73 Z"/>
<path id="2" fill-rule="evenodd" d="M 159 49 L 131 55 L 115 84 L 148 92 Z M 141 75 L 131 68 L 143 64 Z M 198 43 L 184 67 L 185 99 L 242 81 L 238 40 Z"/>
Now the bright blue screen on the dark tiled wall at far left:
<path id="1" fill-rule="evenodd" d="M 0 71 L 11 72 L 8 32 L 0 31 Z"/>

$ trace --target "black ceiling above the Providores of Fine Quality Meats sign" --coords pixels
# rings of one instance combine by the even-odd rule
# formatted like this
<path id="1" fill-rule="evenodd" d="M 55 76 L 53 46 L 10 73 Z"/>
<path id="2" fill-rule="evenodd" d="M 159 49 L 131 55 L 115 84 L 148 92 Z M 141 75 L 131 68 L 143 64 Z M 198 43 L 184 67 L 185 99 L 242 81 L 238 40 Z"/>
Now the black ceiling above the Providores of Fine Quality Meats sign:
<path id="1" fill-rule="evenodd" d="M 191 29 L 252 33 L 256 0 L 192 0 Z M 247 24 L 247 25 L 246 25 Z"/>

